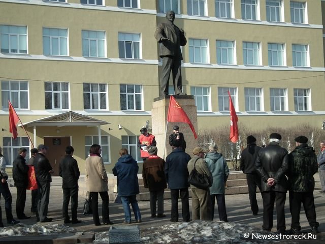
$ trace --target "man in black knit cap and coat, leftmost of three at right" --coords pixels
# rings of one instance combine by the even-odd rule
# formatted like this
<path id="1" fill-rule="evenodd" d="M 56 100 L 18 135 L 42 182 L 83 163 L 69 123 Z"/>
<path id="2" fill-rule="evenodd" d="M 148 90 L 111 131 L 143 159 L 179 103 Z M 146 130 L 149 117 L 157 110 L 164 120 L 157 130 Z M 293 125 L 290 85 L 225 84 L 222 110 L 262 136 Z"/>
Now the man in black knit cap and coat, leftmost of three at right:
<path id="1" fill-rule="evenodd" d="M 256 200 L 256 186 L 259 191 L 261 191 L 261 177 L 259 177 L 255 170 L 255 161 L 257 153 L 262 149 L 262 147 L 256 145 L 256 138 L 252 135 L 247 136 L 246 142 L 247 147 L 241 153 L 239 167 L 243 173 L 246 174 L 250 208 L 253 215 L 257 215 L 258 205 Z"/>

